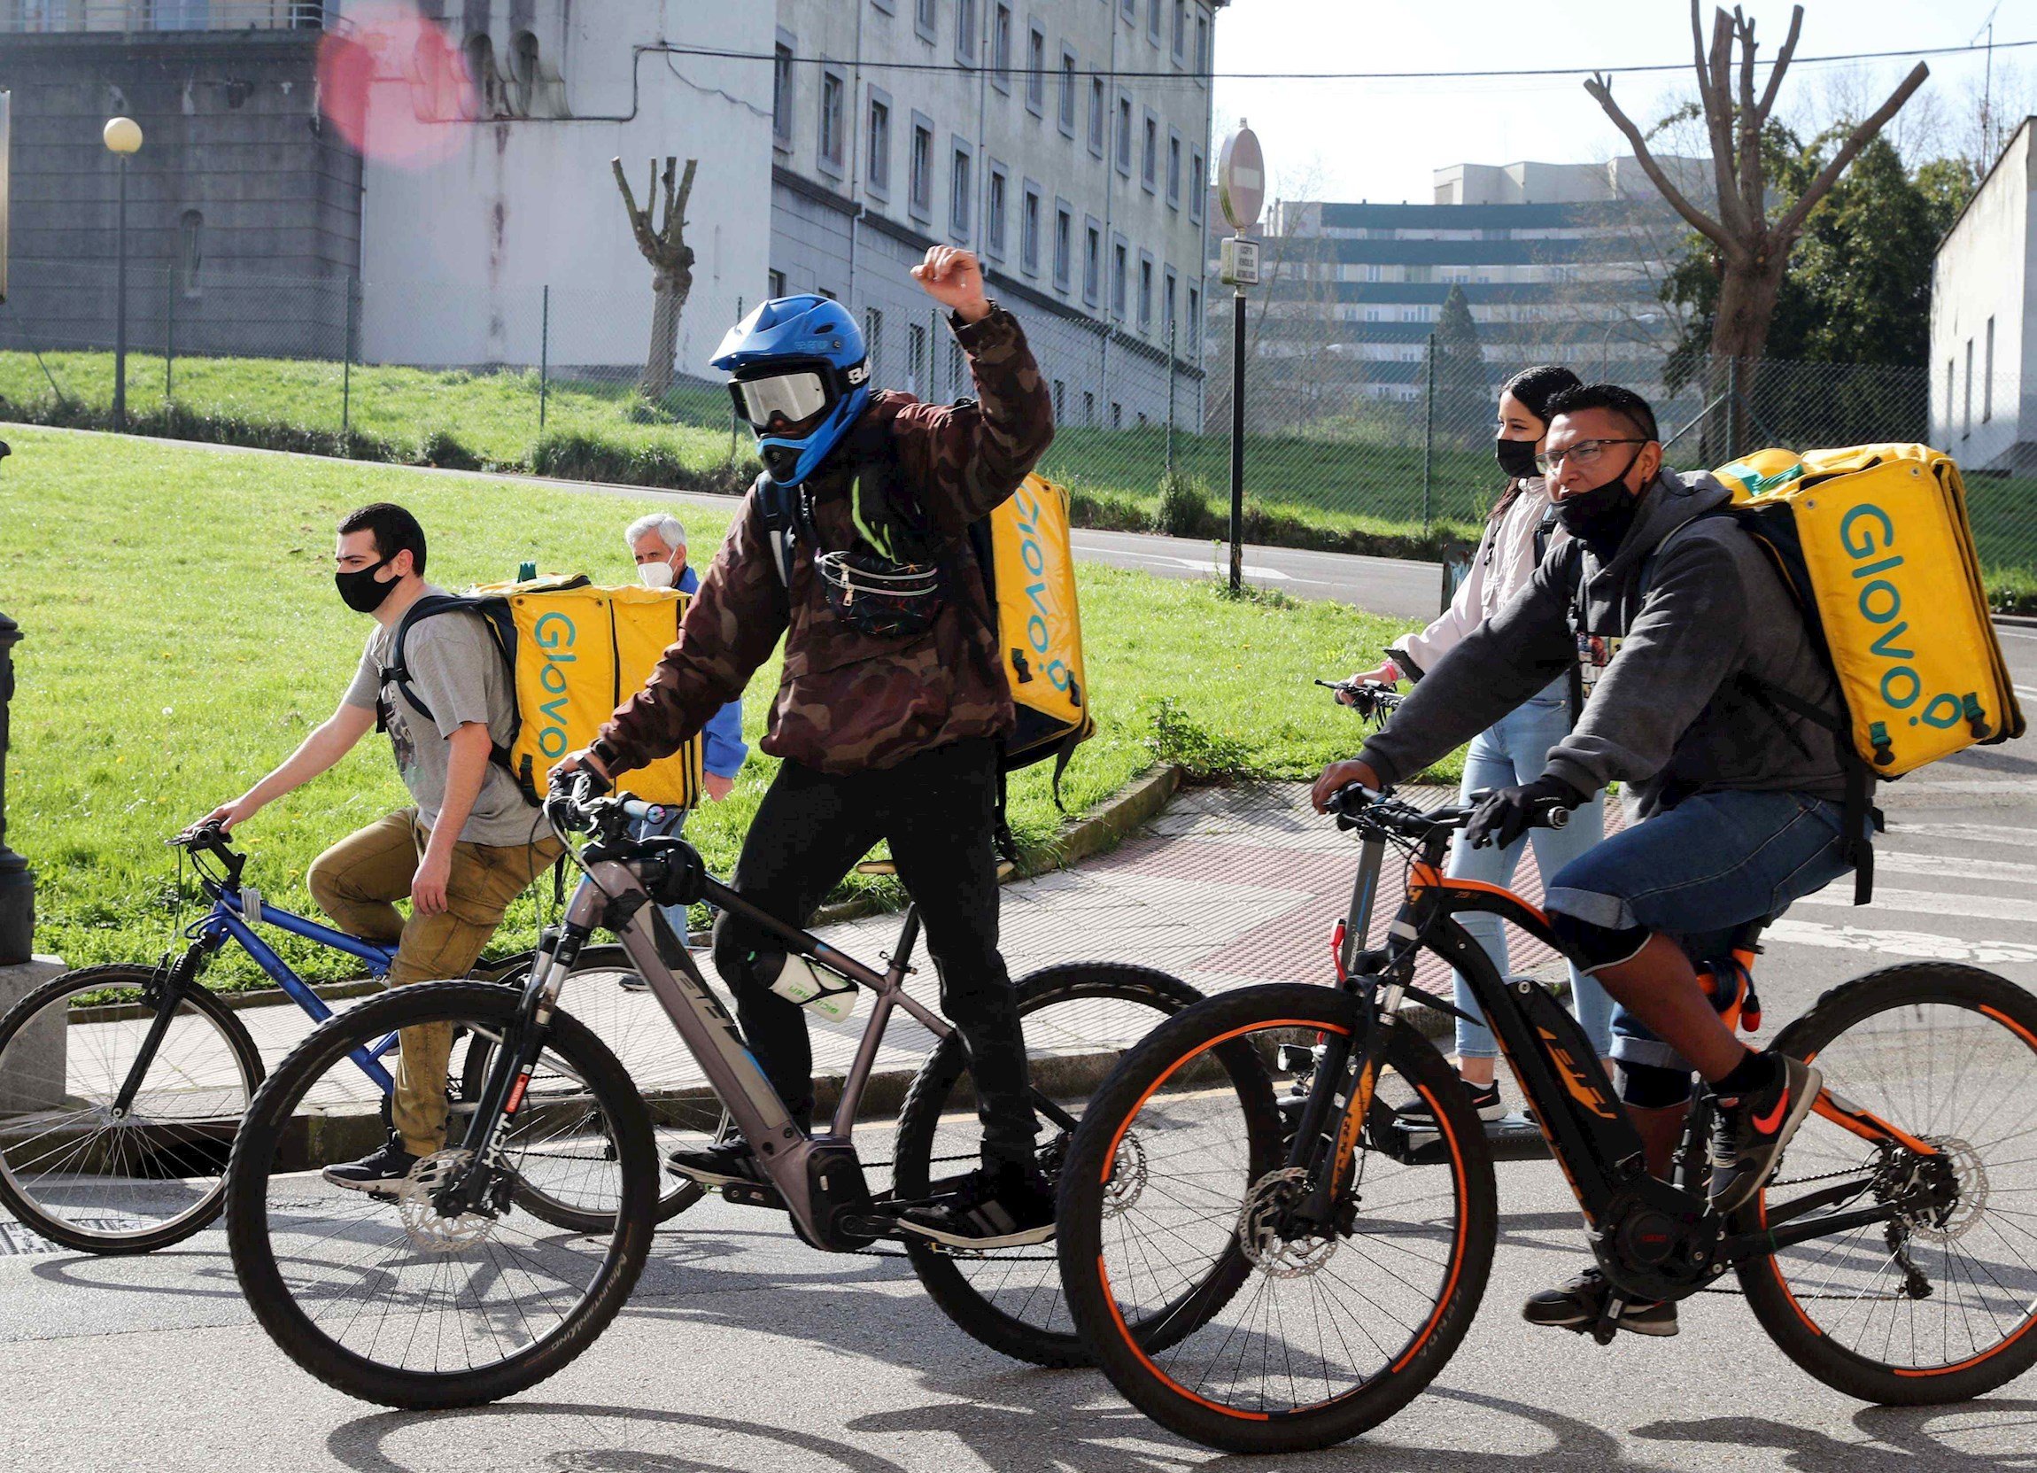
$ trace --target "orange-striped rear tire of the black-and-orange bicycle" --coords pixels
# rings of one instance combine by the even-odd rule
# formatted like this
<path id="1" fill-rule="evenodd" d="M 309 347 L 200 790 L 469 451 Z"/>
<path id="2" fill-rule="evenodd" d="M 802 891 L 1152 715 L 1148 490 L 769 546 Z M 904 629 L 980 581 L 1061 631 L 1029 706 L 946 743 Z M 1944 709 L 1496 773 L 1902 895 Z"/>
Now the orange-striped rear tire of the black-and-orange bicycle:
<path id="1" fill-rule="evenodd" d="M 1974 1068 L 1976 1055 L 1986 1055 L 1986 1039 L 1994 1033 L 2004 1035 L 2000 1039 L 1998 1057 L 2013 1061 L 2015 1078 L 1992 1078 L 1992 1086 L 1982 1096 L 1984 1100 L 2033 1100 L 2037 1098 L 2037 998 L 2019 988 L 2006 978 L 1994 976 L 1992 972 L 1982 972 L 1972 966 L 1958 966 L 1951 962 L 1913 962 L 1905 966 L 1884 968 L 1880 972 L 1870 972 L 1866 976 L 1843 982 L 1829 992 L 1825 992 L 1809 1013 L 1784 1027 L 1772 1047 L 1795 1057 L 1823 1057 L 1827 1068 L 1827 1088 L 1852 1094 L 1856 1090 L 1854 1080 L 1846 1076 L 1843 1070 L 1843 1039 L 1850 1031 L 1860 1029 L 1876 1017 L 1888 1015 L 1896 1008 L 1915 1008 L 1915 1017 L 1921 1019 L 1923 1008 L 1943 1008 L 1953 1006 L 1964 1013 L 1972 1013 L 1978 1019 L 1992 1015 L 1992 1025 L 1980 1023 L 1974 1027 L 1984 1029 L 1976 1037 L 1964 1039 L 1964 1045 L 1953 1049 L 1962 1057 L 1945 1057 L 1943 1070 L 1945 1078 L 1958 1080 Z M 1837 1051 L 1837 1055 L 1835 1055 Z M 1986 1057 L 1980 1057 L 1982 1068 L 1986 1068 Z M 1933 1074 L 1931 1086 L 1935 1088 L 1937 1076 Z M 1856 1100 L 1866 1108 L 1876 1108 L 1872 1100 Z M 1943 1123 L 1947 1106 L 1929 1108 L 1923 1104 L 1913 1106 L 1919 1116 L 1935 1116 L 1933 1123 L 1915 1129 L 1943 1129 L 1951 1131 L 1951 1125 Z M 1988 1119 L 2000 1110 L 2000 1104 L 1986 1106 Z M 1890 1110 L 1892 1125 L 1905 1125 Z M 1956 1116 L 1953 1116 L 1956 1123 Z M 1778 1167 L 1778 1178 L 1786 1178 L 1791 1171 L 1788 1155 L 1807 1155 L 1807 1147 L 1815 1147 L 1815 1141 L 1807 1141 L 1807 1133 L 1821 1125 L 1819 1116 L 1809 1116 L 1805 1127 L 1799 1131 L 1797 1139 L 1791 1141 L 1784 1161 Z M 1835 1131 L 1835 1127 L 1831 1127 Z M 2029 1155 L 2029 1133 L 2023 1131 L 2023 1145 L 2015 1147 Z M 1850 1143 L 1850 1137 L 1843 1137 Z M 2013 1137 L 2008 1137 L 2013 1139 Z M 1976 1155 L 1976 1161 L 1980 1157 Z M 2013 1159 L 2011 1165 L 2019 1161 Z M 1813 1171 L 1815 1171 L 1813 1163 Z M 1799 1167 L 1801 1169 L 1801 1167 Z M 1980 1180 L 1986 1180 L 1986 1161 L 1980 1161 Z M 2019 1192 L 2029 1192 L 2029 1186 L 2037 1184 L 2037 1171 L 2025 1167 L 2019 1182 Z M 2000 1182 L 1996 1182 L 2000 1190 Z M 1968 1186 L 1968 1192 L 1972 1188 Z M 1764 1231 L 1766 1224 L 1766 1196 L 1764 1190 L 1742 1214 L 1736 1216 L 1733 1229 L 1742 1233 Z M 1986 1192 L 1980 1194 L 1980 1210 L 1986 1206 Z M 2031 1208 L 2017 1208 L 2025 1216 Z M 1974 1226 L 1978 1222 L 1970 1222 Z M 2029 1247 L 2037 1241 L 2027 1226 L 2017 1229 L 2021 1239 L 2008 1239 L 1996 1235 L 2015 1251 L 2021 1241 L 2021 1251 L 2015 1257 L 2021 1259 L 2019 1275 L 2025 1279 L 2025 1288 L 2015 1294 L 2025 1306 L 2025 1316 L 2013 1332 L 2004 1334 L 1992 1347 L 1964 1355 L 1960 1361 L 1945 1361 L 1943 1365 L 1898 1365 L 1888 1359 L 1876 1359 L 1874 1355 L 1864 1355 L 1858 1349 L 1839 1343 L 1837 1324 L 1821 1324 L 1819 1316 L 1837 1318 L 1837 1310 L 1827 1312 L 1821 1308 L 1819 1300 L 1827 1296 L 1817 1296 L 1813 1286 L 1797 1284 L 1791 1286 L 1791 1275 L 1799 1263 L 1807 1261 L 1803 1257 L 1791 1259 L 1788 1265 L 1778 1255 L 1764 1255 L 1758 1259 L 1748 1259 L 1738 1265 L 1740 1288 L 1746 1294 L 1748 1308 L 1754 1310 L 1754 1318 L 1776 1343 L 1776 1347 L 1793 1359 L 1799 1367 L 1809 1371 L 1813 1377 L 1823 1381 L 1835 1392 L 1860 1398 L 1862 1402 L 1880 1402 L 1884 1406 L 1931 1406 L 1941 1402 L 1966 1402 L 1970 1398 L 1982 1396 L 1986 1392 L 2013 1381 L 2023 1375 L 2031 1365 L 2037 1365 L 2037 1304 L 2031 1304 L 2031 1294 L 2027 1288 Z M 1986 1239 L 1982 1239 L 1984 1243 Z M 1815 1251 L 1819 1243 L 1829 1243 L 1829 1239 L 1815 1239 L 1805 1245 L 1803 1253 Z M 1843 1245 L 1843 1239 L 1833 1245 Z M 1923 1263 L 1917 1257 L 1931 1261 L 1927 1249 L 1919 1249 L 1913 1255 L 1913 1267 L 1919 1271 Z M 1958 1284 L 1958 1263 L 1951 1253 L 1939 1249 L 1939 1257 L 1947 1263 L 1947 1284 L 1941 1286 L 1941 1294 L 1960 1292 Z M 1890 1247 L 1890 1261 L 1894 1261 L 1894 1249 Z M 1980 1294 L 1980 1277 L 1994 1277 L 1982 1265 L 1982 1273 L 1968 1269 L 1972 1292 Z M 1809 1273 L 1799 1273 L 1807 1279 Z M 1876 1284 L 1880 1277 L 1874 1279 Z M 1994 1279 L 1998 1284 L 1998 1279 Z M 1862 1290 L 1864 1294 L 1864 1290 Z M 1862 1294 L 1854 1298 L 1860 1300 Z M 1829 1296 L 1837 1298 L 1837 1296 Z M 1807 1308 L 1809 1304 L 1809 1308 Z M 1915 1300 L 1913 1300 L 1915 1304 Z M 1872 1310 L 1870 1310 L 1872 1316 Z M 1949 1330 L 1951 1324 L 1951 1304 L 1945 1302 L 1941 1308 L 1933 1306 L 1927 1310 L 1925 1330 L 1929 1334 L 1929 1320 L 1943 1318 Z M 1966 1316 L 1968 1334 L 1972 1334 L 1974 1316 Z M 1872 1318 L 1866 1320 L 1872 1326 Z M 1896 1349 L 1896 1312 L 1890 1310 L 1890 1334 L 1882 1345 L 1882 1355 L 1886 1357 Z M 1913 1336 L 1907 1341 L 1915 1345 L 1915 1324 L 1911 1320 Z M 1947 1332 L 1949 1339 L 1949 1332 Z M 1929 1339 L 1927 1339 L 1929 1345 Z M 1972 1349 L 1972 1347 L 1970 1347 Z"/>

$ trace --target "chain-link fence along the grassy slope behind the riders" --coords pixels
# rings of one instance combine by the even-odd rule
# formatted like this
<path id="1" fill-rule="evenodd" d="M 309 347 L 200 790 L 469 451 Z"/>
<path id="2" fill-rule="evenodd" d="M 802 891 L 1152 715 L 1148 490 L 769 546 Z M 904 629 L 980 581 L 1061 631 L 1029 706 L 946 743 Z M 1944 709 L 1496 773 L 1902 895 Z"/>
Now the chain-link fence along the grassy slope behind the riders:
<path id="1" fill-rule="evenodd" d="M 0 414 L 112 422 L 110 275 L 102 261 L 14 263 L 14 297 L 0 306 Z M 1222 297 L 1212 320 L 1228 326 Z M 684 322 L 693 334 L 719 326 Z M 650 336 L 648 283 L 497 291 L 130 267 L 124 412 L 132 430 L 181 438 L 739 491 L 754 460 L 723 389 L 674 375 L 646 393 Z M 1609 338 L 1585 332 L 1573 363 L 1648 395 L 1674 469 L 1768 444 L 1949 450 L 1968 467 L 1990 583 L 2004 601 L 2037 601 L 2037 475 L 1984 469 L 2011 450 L 2021 385 L 1933 383 L 1925 369 L 1878 365 L 1699 363 L 1672 387 L 1660 357 Z M 1501 491 L 1493 399 L 1528 363 L 1467 363 L 1434 342 L 1259 342 L 1245 395 L 1249 542 L 1438 558 L 1477 536 Z M 886 344 L 878 379 L 902 385 L 904 357 Z M 939 367 L 931 354 L 935 397 L 966 391 Z M 1124 414 L 1120 399 L 1135 395 L 1096 381 L 1094 365 L 1071 369 L 1043 365 L 1059 418 L 1043 469 L 1071 487 L 1078 517 L 1226 536 L 1228 340 L 1204 350 L 1202 383 L 1169 377 L 1165 412 Z"/>

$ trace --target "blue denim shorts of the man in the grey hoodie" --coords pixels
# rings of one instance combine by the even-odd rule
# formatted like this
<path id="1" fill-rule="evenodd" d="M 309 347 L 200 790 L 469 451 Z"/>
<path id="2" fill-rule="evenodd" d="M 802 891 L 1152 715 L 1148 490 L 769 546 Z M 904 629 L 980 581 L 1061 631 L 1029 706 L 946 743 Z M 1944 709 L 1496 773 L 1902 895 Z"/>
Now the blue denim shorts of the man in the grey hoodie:
<path id="1" fill-rule="evenodd" d="M 1548 882 L 1548 909 L 1611 931 L 1664 931 L 1707 962 L 1738 927 L 1852 868 L 1841 813 L 1809 793 L 1699 793 L 1566 864 Z M 1613 1015 L 1613 1057 L 1691 1068 L 1626 1008 Z"/>

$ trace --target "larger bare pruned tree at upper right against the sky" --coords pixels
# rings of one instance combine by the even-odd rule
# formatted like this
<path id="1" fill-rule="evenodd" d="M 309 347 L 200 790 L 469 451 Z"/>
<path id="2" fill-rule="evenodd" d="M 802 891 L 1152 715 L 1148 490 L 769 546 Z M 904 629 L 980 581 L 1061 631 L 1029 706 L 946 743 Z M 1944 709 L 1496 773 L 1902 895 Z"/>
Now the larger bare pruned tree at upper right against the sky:
<path id="1" fill-rule="evenodd" d="M 1585 84 L 1585 92 L 1597 98 L 1599 106 L 1613 120 L 1613 126 L 1626 134 L 1634 157 L 1640 159 L 1654 187 L 1719 253 L 1719 310 L 1711 328 L 1713 361 L 1723 359 L 1742 365 L 1760 361 L 1762 344 L 1768 340 L 1768 322 L 1774 318 L 1776 293 L 1782 289 L 1791 249 L 1797 244 L 1797 236 L 1803 234 L 1805 216 L 1831 192 L 1831 185 L 1839 181 L 1839 175 L 1846 173 L 1854 157 L 1880 132 L 1882 124 L 1931 75 L 1931 69 L 1919 61 L 1903 84 L 1888 94 L 1888 100 L 1852 128 L 1846 143 L 1839 145 L 1837 153 L 1831 155 L 1831 161 L 1809 187 L 1780 216 L 1770 218 L 1762 130 L 1776 104 L 1776 92 L 1782 88 L 1782 73 L 1788 71 L 1801 31 L 1803 6 L 1797 6 L 1791 12 L 1788 37 L 1770 65 L 1768 86 L 1756 96 L 1754 18 L 1738 6 L 1731 14 L 1723 8 L 1713 10 L 1711 43 L 1707 47 L 1699 20 L 1699 0 L 1691 0 L 1697 92 L 1711 137 L 1711 167 L 1719 187 L 1717 218 L 1691 204 L 1656 163 L 1648 151 L 1646 134 L 1613 102 L 1611 79 L 1605 73 L 1595 73 Z M 1736 47 L 1740 51 L 1738 67 L 1733 63 Z"/>

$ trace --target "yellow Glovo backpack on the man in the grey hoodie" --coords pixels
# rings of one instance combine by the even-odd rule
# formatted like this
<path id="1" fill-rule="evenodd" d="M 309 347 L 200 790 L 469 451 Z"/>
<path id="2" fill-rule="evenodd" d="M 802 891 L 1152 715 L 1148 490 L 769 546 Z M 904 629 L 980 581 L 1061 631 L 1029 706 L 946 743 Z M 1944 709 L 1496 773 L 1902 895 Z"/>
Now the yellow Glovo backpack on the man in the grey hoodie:
<path id="1" fill-rule="evenodd" d="M 1862 790 L 1868 776 L 2023 735 L 1951 456 L 1923 444 L 1756 450 L 1713 475 L 1823 642 L 1846 707 L 1827 723 Z M 1864 862 L 1856 903 L 1870 886 Z"/>

